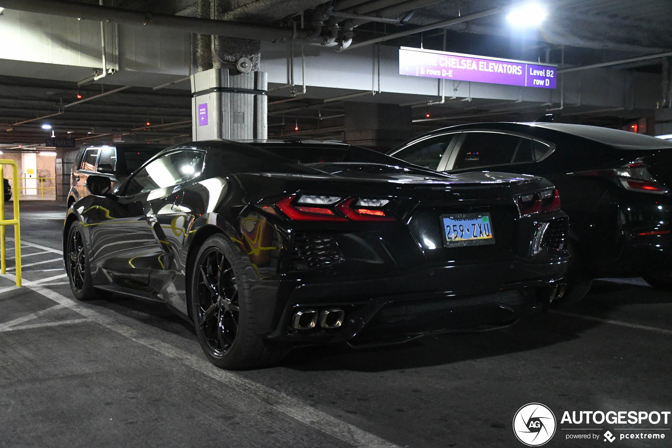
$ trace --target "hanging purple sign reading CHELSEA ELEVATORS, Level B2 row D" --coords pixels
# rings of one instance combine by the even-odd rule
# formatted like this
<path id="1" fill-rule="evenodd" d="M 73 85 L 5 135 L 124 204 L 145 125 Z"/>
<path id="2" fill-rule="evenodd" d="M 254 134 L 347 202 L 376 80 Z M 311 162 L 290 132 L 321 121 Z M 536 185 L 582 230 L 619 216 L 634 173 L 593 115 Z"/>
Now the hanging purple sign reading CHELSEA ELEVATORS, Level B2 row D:
<path id="1" fill-rule="evenodd" d="M 555 89 L 554 65 L 401 47 L 399 75 Z"/>

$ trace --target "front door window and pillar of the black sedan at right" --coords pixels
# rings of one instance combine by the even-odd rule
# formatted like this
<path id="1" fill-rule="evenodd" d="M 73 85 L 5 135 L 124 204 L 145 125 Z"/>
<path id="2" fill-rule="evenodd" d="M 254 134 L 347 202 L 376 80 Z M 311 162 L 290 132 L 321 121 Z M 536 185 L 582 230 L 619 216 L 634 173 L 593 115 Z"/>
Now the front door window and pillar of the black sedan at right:
<path id="1" fill-rule="evenodd" d="M 448 156 L 452 153 L 460 134 L 460 132 L 446 132 L 420 138 L 388 155 L 420 167 L 444 171 Z"/>

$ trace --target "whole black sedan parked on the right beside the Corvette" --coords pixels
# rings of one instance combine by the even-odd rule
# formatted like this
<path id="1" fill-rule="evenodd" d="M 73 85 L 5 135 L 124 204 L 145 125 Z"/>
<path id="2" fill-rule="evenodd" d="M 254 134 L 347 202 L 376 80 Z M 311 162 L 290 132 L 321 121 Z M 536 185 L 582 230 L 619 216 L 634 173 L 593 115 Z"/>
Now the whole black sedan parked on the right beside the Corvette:
<path id="1" fill-rule="evenodd" d="M 562 123 L 476 123 L 429 132 L 388 154 L 438 171 L 546 177 L 569 214 L 565 304 L 594 278 L 638 277 L 672 289 L 672 141 Z"/>

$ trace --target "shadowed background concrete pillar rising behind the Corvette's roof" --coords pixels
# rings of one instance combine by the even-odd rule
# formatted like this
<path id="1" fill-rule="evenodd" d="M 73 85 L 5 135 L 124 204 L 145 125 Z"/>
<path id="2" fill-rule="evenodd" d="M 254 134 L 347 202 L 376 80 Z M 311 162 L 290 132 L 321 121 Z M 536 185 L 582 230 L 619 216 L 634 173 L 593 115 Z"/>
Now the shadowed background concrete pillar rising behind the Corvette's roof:
<path id="1" fill-rule="evenodd" d="M 345 103 L 343 141 L 386 151 L 413 137 L 413 110 L 396 104 Z"/>

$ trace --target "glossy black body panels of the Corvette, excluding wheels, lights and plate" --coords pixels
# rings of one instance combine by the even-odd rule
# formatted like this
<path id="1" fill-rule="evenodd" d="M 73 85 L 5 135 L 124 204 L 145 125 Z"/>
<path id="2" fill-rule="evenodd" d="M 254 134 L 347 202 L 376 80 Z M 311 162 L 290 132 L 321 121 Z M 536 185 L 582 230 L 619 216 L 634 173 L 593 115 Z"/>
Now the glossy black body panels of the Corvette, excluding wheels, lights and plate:
<path id="1" fill-rule="evenodd" d="M 194 142 L 161 154 L 178 148 L 207 152 L 196 179 L 132 197 L 88 195 L 69 209 L 64 231 L 75 220 L 83 224 L 95 287 L 165 302 L 190 318 L 185 292 L 193 257 L 208 236 L 223 233 L 252 263 L 257 332 L 276 341 L 307 343 L 347 341 L 363 328 L 366 334 L 367 325 L 390 304 L 466 301 L 447 315 L 435 314 L 432 318 L 442 318 L 433 322 L 379 328 L 382 333 L 511 322 L 544 309 L 566 272 L 568 256 L 562 250 L 528 254 L 534 222 L 562 225 L 566 215 L 558 211 L 520 218 L 515 206 L 515 196 L 552 187 L 545 179 L 512 180 L 498 173 L 452 178 L 404 168 L 404 163 L 370 163 L 368 158 L 394 159 L 355 147 L 347 152 L 348 163 L 311 165 L 227 141 Z M 400 181 L 399 175 L 413 180 Z M 385 210 L 396 219 L 300 222 L 259 208 L 290 193 L 389 197 Z M 438 217 L 478 210 L 491 212 L 497 244 L 445 249 Z M 331 263 L 323 259 L 311 266 L 306 257 L 296 260 L 301 252 L 296 248 L 310 238 L 335 248 L 337 254 L 325 257 Z M 481 303 L 487 295 L 507 291 L 522 291 L 525 300 Z M 299 332 L 288 326 L 292 310 L 331 306 L 346 310 L 341 328 Z"/>

